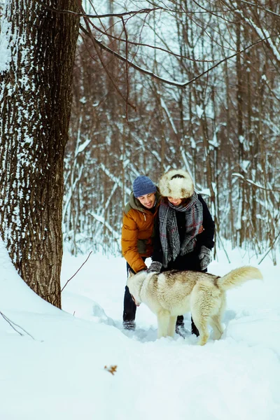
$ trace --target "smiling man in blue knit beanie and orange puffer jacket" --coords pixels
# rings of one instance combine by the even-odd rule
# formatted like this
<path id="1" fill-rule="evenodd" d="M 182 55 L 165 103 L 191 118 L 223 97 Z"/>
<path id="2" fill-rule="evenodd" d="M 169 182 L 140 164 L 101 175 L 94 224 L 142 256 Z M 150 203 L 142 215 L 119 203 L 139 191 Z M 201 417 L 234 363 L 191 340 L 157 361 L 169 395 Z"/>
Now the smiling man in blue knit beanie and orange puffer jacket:
<path id="1" fill-rule="evenodd" d="M 145 260 L 153 253 L 154 220 L 160 204 L 160 193 L 148 176 L 137 176 L 133 183 L 130 201 L 123 212 L 122 252 L 128 270 L 137 273 L 147 269 Z M 136 304 L 125 286 L 123 325 L 135 328 Z"/>

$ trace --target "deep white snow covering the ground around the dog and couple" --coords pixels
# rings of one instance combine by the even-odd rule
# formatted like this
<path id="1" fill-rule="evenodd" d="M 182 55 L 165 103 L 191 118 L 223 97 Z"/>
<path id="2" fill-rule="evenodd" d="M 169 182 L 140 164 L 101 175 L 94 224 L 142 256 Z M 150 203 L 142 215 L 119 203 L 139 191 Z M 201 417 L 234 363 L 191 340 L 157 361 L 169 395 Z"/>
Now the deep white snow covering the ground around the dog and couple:
<path id="1" fill-rule="evenodd" d="M 220 251 L 209 272 L 260 260 L 228 253 L 231 263 Z M 86 258 L 64 253 L 62 286 Z M 0 263 L 0 311 L 34 337 L 0 316 L 0 420 L 279 420 L 280 279 L 269 257 L 263 282 L 228 292 L 223 337 L 204 347 L 190 334 L 157 340 L 144 304 L 137 330 L 123 330 L 123 258 L 90 255 L 63 311 L 26 286 L 1 242 Z"/>

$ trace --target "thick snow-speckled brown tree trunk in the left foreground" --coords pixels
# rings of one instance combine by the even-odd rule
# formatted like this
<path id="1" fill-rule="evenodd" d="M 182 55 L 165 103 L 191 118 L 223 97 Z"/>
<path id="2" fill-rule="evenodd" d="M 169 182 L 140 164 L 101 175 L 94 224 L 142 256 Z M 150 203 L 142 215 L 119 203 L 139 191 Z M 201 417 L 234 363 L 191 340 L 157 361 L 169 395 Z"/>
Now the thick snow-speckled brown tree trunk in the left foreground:
<path id="1" fill-rule="evenodd" d="M 78 0 L 53 0 L 78 11 Z M 78 17 L 36 0 L 5 10 L 10 61 L 0 73 L 0 230 L 22 279 L 61 307 L 64 148 Z"/>

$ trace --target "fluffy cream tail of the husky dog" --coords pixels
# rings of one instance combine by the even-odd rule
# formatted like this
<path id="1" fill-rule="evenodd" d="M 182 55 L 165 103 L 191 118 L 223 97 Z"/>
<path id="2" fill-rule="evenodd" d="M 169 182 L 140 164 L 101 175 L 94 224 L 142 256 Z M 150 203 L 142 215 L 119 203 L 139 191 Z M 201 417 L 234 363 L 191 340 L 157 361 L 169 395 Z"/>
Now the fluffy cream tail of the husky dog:
<path id="1" fill-rule="evenodd" d="M 232 269 L 232 271 L 225 274 L 225 276 L 219 277 L 217 279 L 217 285 L 218 288 L 221 288 L 222 290 L 228 290 L 241 286 L 245 281 L 252 279 L 262 280 L 262 273 L 258 268 L 251 267 L 251 265 L 245 265 L 244 267 Z"/>

